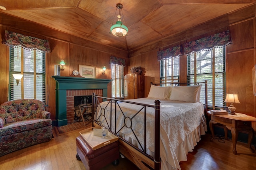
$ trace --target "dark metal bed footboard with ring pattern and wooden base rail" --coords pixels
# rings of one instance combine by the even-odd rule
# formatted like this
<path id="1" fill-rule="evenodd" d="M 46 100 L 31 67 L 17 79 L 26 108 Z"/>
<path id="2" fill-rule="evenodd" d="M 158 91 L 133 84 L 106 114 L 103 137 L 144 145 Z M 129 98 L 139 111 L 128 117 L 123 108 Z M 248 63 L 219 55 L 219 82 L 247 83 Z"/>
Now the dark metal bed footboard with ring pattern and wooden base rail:
<path id="1" fill-rule="evenodd" d="M 132 161 L 134 164 L 136 164 L 136 166 L 138 166 L 138 168 L 142 169 L 142 170 L 148 170 L 148 169 L 154 169 L 154 170 L 160 170 L 160 166 L 161 166 L 161 160 L 160 160 L 160 100 L 155 100 L 155 104 L 154 105 L 146 105 L 146 104 L 139 104 L 139 103 L 135 103 L 135 102 L 128 102 L 128 101 L 124 101 L 124 100 L 118 100 L 118 99 L 112 99 L 112 98 L 106 98 L 106 97 L 100 97 L 100 96 L 96 96 L 95 93 L 92 93 L 92 127 L 94 127 L 95 123 L 100 125 L 97 120 L 97 112 L 96 112 L 96 108 L 97 106 L 100 104 L 99 102 L 99 98 L 102 98 L 102 100 L 109 100 L 110 103 L 112 102 L 127 102 L 130 104 L 138 104 L 140 106 L 142 106 L 142 108 L 144 108 L 145 111 L 145 115 L 146 115 L 146 107 L 154 107 L 154 111 L 155 111 L 155 120 L 154 120 L 154 126 L 155 126 L 155 139 L 154 139 L 154 158 L 152 158 L 152 156 L 146 154 L 146 150 L 144 149 L 144 151 L 134 147 L 132 144 L 130 144 L 128 141 L 125 141 L 124 139 L 122 139 L 121 137 L 119 137 L 119 145 L 120 145 L 120 153 L 122 155 L 124 155 L 126 158 L 128 158 L 130 161 Z M 111 105 L 112 106 L 112 105 Z M 145 120 L 146 121 L 146 120 Z M 110 128 L 112 127 L 111 124 L 112 121 L 110 121 Z M 114 125 L 115 126 L 115 125 Z M 146 126 L 146 123 L 144 123 L 144 126 Z M 145 128 L 146 129 L 146 128 Z M 114 135 L 116 134 L 115 132 L 110 131 L 111 133 L 113 133 Z M 118 135 L 117 135 L 118 136 Z M 145 139 L 146 139 L 146 131 L 145 131 Z M 145 141 L 145 140 L 144 140 Z"/>

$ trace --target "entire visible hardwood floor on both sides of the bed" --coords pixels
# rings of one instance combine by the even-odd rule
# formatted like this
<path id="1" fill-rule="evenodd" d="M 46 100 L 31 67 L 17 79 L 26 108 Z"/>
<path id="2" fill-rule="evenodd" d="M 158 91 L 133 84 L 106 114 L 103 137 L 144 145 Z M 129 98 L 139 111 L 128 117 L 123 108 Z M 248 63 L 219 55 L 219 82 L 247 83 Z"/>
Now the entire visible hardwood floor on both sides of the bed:
<path id="1" fill-rule="evenodd" d="M 41 143 L 0 157 L 0 170 L 85 170 L 76 159 L 76 137 L 79 131 L 56 136 L 50 142 Z M 237 155 L 232 153 L 232 141 L 225 143 L 210 134 L 202 135 L 202 140 L 193 152 L 188 153 L 188 161 L 180 162 L 182 170 L 254 170 L 256 154 L 249 151 L 247 144 L 238 142 Z M 102 170 L 136 170 L 125 158 L 118 166 L 112 164 Z"/>

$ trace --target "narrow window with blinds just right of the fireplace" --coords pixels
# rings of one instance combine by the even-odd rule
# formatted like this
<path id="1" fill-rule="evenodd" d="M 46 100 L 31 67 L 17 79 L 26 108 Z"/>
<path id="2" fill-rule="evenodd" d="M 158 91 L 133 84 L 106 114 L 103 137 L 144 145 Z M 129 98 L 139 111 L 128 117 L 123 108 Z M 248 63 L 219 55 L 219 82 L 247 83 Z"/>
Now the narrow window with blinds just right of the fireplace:
<path id="1" fill-rule="evenodd" d="M 124 66 L 111 64 L 112 98 L 124 98 Z"/>

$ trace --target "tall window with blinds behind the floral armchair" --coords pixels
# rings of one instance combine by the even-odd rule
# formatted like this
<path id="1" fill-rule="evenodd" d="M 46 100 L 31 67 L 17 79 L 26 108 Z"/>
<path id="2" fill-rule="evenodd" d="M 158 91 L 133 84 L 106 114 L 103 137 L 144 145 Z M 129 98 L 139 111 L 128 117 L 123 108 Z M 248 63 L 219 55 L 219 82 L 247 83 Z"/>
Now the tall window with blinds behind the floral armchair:
<path id="1" fill-rule="evenodd" d="M 13 73 L 23 74 L 18 86 Z M 37 99 L 45 102 L 45 53 L 10 47 L 9 100 Z"/>

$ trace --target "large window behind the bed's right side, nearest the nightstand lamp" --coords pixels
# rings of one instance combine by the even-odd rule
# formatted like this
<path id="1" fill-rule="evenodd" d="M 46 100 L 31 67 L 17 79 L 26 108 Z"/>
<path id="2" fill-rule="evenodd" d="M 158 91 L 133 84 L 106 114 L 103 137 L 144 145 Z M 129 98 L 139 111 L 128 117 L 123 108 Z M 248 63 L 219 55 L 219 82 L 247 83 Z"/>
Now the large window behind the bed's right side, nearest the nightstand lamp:
<path id="1" fill-rule="evenodd" d="M 208 80 L 208 105 L 224 106 L 225 46 L 188 55 L 188 82 L 204 80 Z M 204 95 L 200 96 L 200 101 L 204 101 Z"/>

